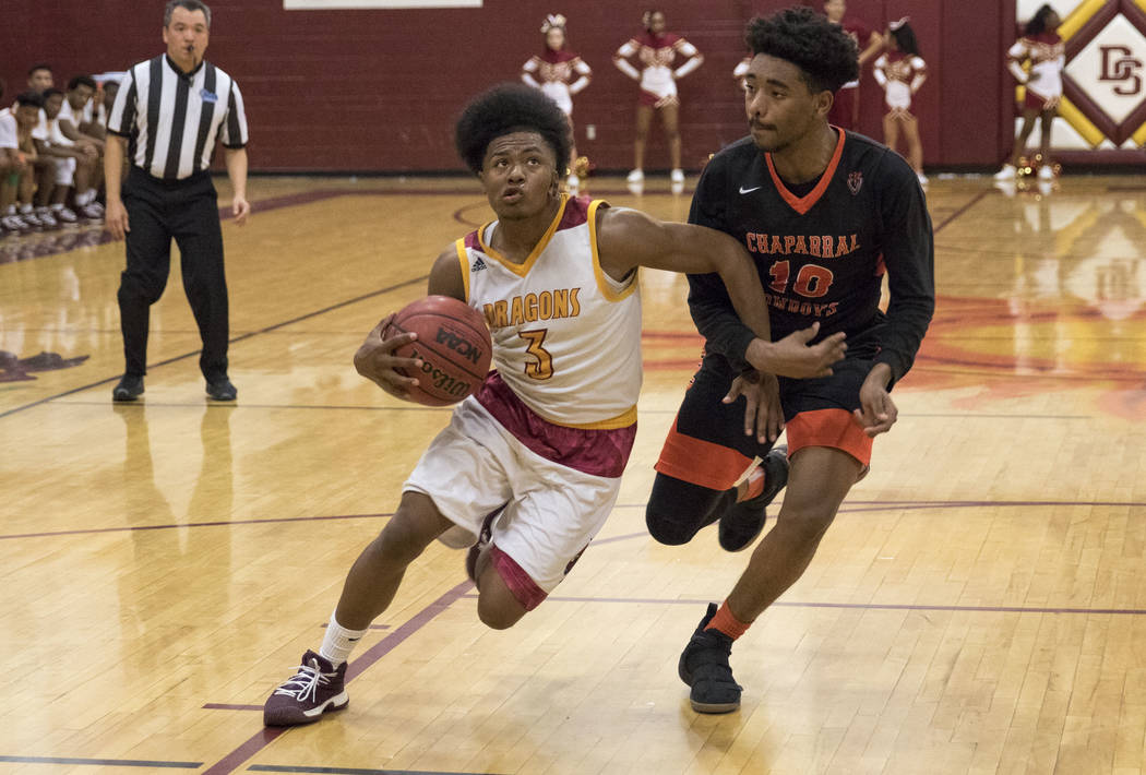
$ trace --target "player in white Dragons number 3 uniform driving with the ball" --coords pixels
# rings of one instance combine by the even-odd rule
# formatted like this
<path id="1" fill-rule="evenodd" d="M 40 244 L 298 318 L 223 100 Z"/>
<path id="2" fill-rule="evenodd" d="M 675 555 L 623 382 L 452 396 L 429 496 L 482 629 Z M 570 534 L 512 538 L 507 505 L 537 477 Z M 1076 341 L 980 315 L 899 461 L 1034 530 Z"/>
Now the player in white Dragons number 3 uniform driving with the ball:
<path id="1" fill-rule="evenodd" d="M 456 140 L 497 220 L 438 257 L 429 292 L 485 313 L 495 370 L 418 461 L 397 512 L 351 569 L 322 648 L 267 699 L 268 726 L 346 706 L 351 650 L 435 539 L 471 547 L 466 570 L 489 627 L 511 627 L 560 584 L 612 510 L 636 432 L 638 267 L 719 273 L 760 337 L 758 368 L 817 376 L 843 354 L 842 336 L 806 346 L 816 329 L 770 342 L 759 275 L 732 237 L 560 194 L 568 125 L 541 92 L 487 92 L 463 112 Z M 354 362 L 405 398 L 416 379 L 394 369 L 416 374 L 421 361 L 393 354 L 414 335 L 384 340 L 388 321 Z"/>

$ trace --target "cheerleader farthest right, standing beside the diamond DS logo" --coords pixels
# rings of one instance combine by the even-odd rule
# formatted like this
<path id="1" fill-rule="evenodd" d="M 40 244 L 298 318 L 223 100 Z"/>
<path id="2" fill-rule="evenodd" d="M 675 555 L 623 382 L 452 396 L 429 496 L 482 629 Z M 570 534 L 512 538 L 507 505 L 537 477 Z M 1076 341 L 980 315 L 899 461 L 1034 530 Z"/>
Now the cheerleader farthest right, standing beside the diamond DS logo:
<path id="1" fill-rule="evenodd" d="M 1022 37 L 1007 52 L 1007 69 L 1020 84 L 1027 87 L 1022 105 L 1022 128 L 1014 139 L 1010 163 L 996 173 L 996 180 L 1014 180 L 1019 159 L 1027 147 L 1027 139 L 1039 119 L 1042 163 L 1038 165 L 1041 180 L 1054 178 L 1051 165 L 1051 125 L 1062 100 L 1062 69 L 1066 66 L 1066 46 L 1057 32 L 1061 19 L 1049 5 L 1044 5 L 1027 22 Z M 1023 62 L 1030 62 L 1029 73 Z"/>

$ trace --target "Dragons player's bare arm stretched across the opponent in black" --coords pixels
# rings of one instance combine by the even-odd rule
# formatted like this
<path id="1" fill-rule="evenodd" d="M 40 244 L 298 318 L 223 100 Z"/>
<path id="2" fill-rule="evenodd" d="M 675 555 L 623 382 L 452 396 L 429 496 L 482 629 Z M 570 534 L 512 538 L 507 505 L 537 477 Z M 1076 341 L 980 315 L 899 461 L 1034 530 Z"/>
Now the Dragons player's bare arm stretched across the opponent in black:
<path id="1" fill-rule="evenodd" d="M 843 358 L 843 334 L 808 346 L 818 326 L 771 340 L 768 304 L 756 266 L 748 252 L 723 232 L 659 221 L 637 210 L 598 210 L 597 217 L 601 265 L 618 280 L 639 266 L 719 274 L 736 314 L 756 335 L 745 354 L 754 368 L 786 377 L 817 377 L 831 374 L 831 365 Z"/>

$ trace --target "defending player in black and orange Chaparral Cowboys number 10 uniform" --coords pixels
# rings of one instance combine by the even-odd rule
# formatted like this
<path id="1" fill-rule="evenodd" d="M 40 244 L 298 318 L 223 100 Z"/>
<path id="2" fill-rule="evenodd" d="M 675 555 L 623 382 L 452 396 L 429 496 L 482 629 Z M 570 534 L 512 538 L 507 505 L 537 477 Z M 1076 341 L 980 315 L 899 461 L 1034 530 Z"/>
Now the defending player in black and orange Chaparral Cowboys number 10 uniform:
<path id="1" fill-rule="evenodd" d="M 689 275 L 705 358 L 657 463 L 649 530 L 684 543 L 720 520 L 721 545 L 735 551 L 752 543 L 764 506 L 787 484 L 776 525 L 681 655 L 692 706 L 707 713 L 739 707 L 732 641 L 800 578 L 866 472 L 873 437 L 896 420 L 892 385 L 911 367 L 935 306 L 932 226 L 915 172 L 827 123 L 833 92 L 857 76 L 855 44 L 808 8 L 754 18 L 746 38 L 751 138 L 709 162 L 689 220 L 752 253 L 774 337 L 818 323 L 821 337 L 846 334 L 848 349 L 829 377 L 759 374 L 747 365 L 758 345 L 720 280 Z M 786 456 L 771 448 L 779 413 Z"/>

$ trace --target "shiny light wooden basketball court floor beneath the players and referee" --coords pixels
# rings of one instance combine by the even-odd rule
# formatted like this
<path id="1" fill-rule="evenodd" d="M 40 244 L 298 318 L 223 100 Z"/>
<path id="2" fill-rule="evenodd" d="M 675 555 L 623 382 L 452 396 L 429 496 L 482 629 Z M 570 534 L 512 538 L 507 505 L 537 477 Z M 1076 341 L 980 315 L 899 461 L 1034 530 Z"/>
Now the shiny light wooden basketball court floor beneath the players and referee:
<path id="1" fill-rule="evenodd" d="M 447 418 L 351 355 L 488 211 L 465 179 L 256 178 L 250 198 L 223 226 L 234 406 L 204 398 L 178 271 L 147 393 L 112 406 L 123 245 L 0 241 L 21 359 L 0 362 L 0 773 L 1146 772 L 1140 179 L 932 182 L 939 305 L 900 423 L 737 643 L 739 712 L 693 713 L 676 660 L 747 555 L 644 530 L 700 346 L 684 280 L 645 273 L 637 446 L 575 572 L 493 632 L 462 554 L 432 547 L 355 652 L 350 709 L 284 734 L 261 703 Z"/>

